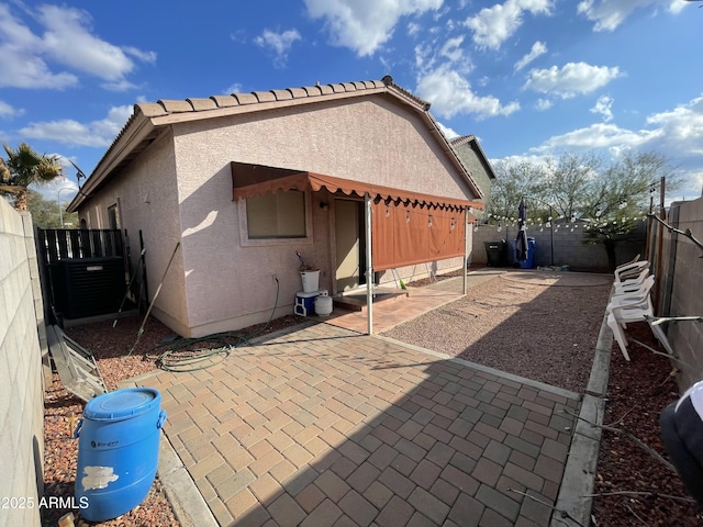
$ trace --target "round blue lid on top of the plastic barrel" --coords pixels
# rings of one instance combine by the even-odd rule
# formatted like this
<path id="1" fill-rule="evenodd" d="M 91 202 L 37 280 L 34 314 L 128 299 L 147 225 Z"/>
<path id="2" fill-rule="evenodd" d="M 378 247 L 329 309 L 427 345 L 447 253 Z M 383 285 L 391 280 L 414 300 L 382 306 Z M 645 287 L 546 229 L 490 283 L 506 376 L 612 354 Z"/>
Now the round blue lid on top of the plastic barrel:
<path id="1" fill-rule="evenodd" d="M 83 417 L 94 421 L 121 421 L 160 406 L 161 394 L 153 388 L 127 388 L 98 395 L 86 404 Z"/>

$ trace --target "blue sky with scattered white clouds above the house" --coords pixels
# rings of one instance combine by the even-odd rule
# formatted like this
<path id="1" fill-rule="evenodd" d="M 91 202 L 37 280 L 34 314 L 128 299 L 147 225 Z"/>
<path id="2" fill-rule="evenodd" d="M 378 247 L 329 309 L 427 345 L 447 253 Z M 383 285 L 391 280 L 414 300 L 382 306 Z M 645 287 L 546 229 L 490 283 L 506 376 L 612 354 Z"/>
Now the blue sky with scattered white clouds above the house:
<path id="1" fill-rule="evenodd" d="M 393 80 L 491 160 L 657 152 L 703 186 L 703 2 L 0 1 L 0 142 L 62 157 L 75 195 L 133 104 Z M 74 189 L 74 190 L 69 190 Z"/>

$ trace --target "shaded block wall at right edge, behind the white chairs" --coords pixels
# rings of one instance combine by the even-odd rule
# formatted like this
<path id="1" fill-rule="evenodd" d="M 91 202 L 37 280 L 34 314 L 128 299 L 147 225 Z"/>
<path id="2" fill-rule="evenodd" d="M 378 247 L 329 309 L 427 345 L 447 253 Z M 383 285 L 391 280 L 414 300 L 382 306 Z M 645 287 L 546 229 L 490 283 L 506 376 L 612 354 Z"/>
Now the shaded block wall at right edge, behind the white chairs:
<path id="1" fill-rule="evenodd" d="M 703 242 L 703 198 L 673 203 L 667 222 L 683 232 L 691 229 L 691 234 Z M 669 280 L 660 294 L 658 314 L 703 315 L 703 250 L 685 236 L 669 233 L 666 228 L 662 232 L 661 274 Z M 667 304 L 669 309 L 666 309 Z M 669 323 L 667 336 L 684 365 L 676 365 L 681 370 L 679 388 L 683 391 L 703 379 L 703 323 Z"/>

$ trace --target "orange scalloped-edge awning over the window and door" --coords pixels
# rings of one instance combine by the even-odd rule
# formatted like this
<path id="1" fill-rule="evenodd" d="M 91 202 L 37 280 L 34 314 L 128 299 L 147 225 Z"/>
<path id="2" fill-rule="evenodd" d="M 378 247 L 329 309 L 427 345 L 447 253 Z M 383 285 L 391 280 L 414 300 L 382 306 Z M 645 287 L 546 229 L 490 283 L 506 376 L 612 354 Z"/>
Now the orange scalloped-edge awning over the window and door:
<path id="1" fill-rule="evenodd" d="M 312 190 L 319 191 L 323 187 L 330 192 L 353 193 L 364 197 L 367 193 L 375 201 L 392 201 L 405 204 L 462 210 L 467 208 L 483 209 L 483 203 L 422 194 L 408 190 L 393 189 L 379 184 L 365 183 L 350 179 L 335 178 L 322 173 L 305 172 L 289 168 L 266 167 L 247 162 L 231 161 L 233 200 L 254 198 L 257 194 L 277 192 L 279 190 Z"/>

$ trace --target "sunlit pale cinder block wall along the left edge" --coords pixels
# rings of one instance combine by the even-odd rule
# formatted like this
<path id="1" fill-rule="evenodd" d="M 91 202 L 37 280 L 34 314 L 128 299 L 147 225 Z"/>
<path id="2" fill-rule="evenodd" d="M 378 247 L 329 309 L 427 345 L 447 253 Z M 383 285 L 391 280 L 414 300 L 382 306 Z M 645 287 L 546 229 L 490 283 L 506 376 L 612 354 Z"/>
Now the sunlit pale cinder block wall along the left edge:
<path id="1" fill-rule="evenodd" d="M 8 506 L 0 511 L 0 526 L 41 523 L 44 389 L 40 326 L 43 339 L 31 215 L 15 212 L 0 199 L 0 505 Z"/>

